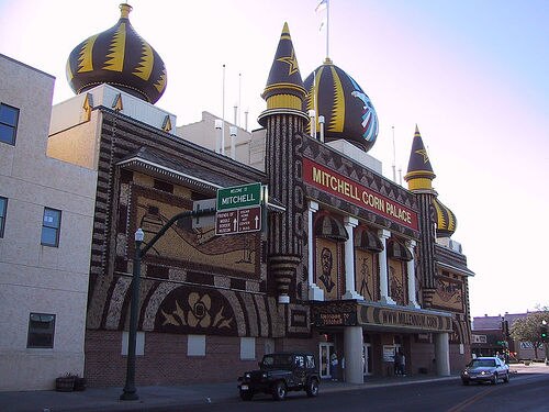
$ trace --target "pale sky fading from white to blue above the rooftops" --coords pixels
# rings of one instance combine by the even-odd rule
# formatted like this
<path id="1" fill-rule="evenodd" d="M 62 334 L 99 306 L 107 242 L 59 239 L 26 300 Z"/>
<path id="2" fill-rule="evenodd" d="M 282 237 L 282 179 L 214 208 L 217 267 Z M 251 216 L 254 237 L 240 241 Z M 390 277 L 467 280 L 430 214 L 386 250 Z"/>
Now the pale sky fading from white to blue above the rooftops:
<path id="1" fill-rule="evenodd" d="M 239 102 L 240 125 L 248 111 L 255 129 L 284 22 L 303 79 L 324 60 L 318 1 L 128 1 L 167 67 L 157 105 L 177 125 L 221 116 L 225 64 L 225 118 Z M 69 53 L 113 26 L 120 2 L 0 0 L 0 53 L 55 76 L 58 103 L 72 96 Z M 549 305 L 549 1 L 330 0 L 329 12 L 329 57 L 377 109 L 370 154 L 386 177 L 393 158 L 406 172 L 419 127 L 475 272 L 471 314 Z"/>

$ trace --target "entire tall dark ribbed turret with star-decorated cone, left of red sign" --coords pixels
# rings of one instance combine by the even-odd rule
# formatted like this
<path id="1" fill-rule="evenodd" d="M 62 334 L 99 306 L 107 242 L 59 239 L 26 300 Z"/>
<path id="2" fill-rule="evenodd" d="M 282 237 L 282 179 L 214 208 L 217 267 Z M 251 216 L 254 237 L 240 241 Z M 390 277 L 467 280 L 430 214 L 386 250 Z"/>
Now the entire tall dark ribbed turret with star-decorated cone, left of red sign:
<path id="1" fill-rule="evenodd" d="M 301 147 L 307 116 L 303 111 L 305 88 L 301 79 L 288 23 L 284 23 L 274 59 L 262 93 L 267 110 L 259 115 L 266 129 L 266 170 L 269 170 L 269 197 L 284 204 L 284 211 L 271 213 L 268 225 L 268 272 L 277 289 L 278 302 L 290 303 L 290 291 L 298 289 L 303 268 L 304 210 L 302 185 L 295 170 L 302 163 Z M 290 196 L 290 193 L 292 193 Z"/>

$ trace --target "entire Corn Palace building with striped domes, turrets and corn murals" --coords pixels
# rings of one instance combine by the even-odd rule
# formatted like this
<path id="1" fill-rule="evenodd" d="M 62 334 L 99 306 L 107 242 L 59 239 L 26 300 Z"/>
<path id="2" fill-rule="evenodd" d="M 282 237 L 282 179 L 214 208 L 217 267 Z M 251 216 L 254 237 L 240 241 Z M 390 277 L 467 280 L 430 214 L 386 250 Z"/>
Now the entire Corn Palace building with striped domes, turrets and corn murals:
<path id="1" fill-rule="evenodd" d="M 405 189 L 367 154 L 378 134 L 368 96 L 329 58 L 303 81 L 284 24 L 266 73 L 262 127 L 249 140 L 261 166 L 208 149 L 213 129 L 179 135 L 177 118 L 154 105 L 166 67 L 132 27 L 131 7 L 121 11 L 70 54 L 76 96 L 54 107 L 47 146 L 48 156 L 98 172 L 89 385 L 124 381 L 137 229 L 147 243 L 197 201 L 248 183 L 265 188 L 261 231 L 216 235 L 212 222 L 181 219 L 144 256 L 137 385 L 232 381 L 265 353 L 292 349 L 317 355 L 323 378 L 332 354 L 345 358 L 350 382 L 393 374 L 395 350 L 410 374 L 460 369 L 473 274 L 450 240 L 456 216 L 432 186 L 419 131 Z"/>

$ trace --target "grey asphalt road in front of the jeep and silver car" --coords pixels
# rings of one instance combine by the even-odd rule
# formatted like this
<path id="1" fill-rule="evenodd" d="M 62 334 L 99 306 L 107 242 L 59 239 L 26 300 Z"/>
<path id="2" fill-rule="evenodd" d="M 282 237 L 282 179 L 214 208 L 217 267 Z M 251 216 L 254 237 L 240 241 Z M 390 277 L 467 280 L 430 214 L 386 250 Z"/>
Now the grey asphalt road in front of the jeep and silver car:
<path id="1" fill-rule="evenodd" d="M 322 393 L 307 398 L 290 392 L 282 402 L 268 396 L 253 401 L 198 405 L 189 411 L 391 411 L 391 412 L 469 412 L 469 411 L 549 411 L 549 372 L 514 375 L 509 383 L 462 386 L 459 378 L 399 387 L 369 388 Z M 175 409 L 167 410 L 175 411 Z"/>

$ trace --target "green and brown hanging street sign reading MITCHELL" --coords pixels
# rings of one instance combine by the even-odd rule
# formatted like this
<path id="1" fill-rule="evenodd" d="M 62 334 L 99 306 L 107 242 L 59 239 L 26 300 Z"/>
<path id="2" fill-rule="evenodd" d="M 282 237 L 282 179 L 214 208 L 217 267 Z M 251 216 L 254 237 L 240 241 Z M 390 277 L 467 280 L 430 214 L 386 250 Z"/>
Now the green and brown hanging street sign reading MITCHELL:
<path id="1" fill-rule="evenodd" d="M 261 183 L 217 189 L 216 199 L 216 235 L 261 230 Z"/>

